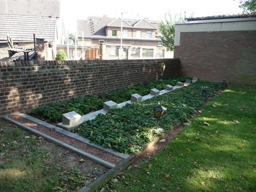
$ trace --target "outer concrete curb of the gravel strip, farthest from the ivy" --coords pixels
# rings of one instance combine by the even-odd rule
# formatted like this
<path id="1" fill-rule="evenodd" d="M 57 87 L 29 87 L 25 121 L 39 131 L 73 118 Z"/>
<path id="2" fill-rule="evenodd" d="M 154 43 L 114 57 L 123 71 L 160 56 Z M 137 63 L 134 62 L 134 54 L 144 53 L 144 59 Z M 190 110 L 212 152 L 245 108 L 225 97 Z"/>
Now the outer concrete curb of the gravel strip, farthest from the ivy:
<path id="1" fill-rule="evenodd" d="M 26 130 L 26 131 L 29 131 L 29 132 L 31 132 L 31 133 L 33 133 L 33 134 L 35 134 L 35 135 L 44 137 L 45 139 L 47 139 L 47 140 L 49 140 L 49 141 L 51 141 L 51 142 L 53 142 L 53 143 L 55 143 L 55 144 L 57 144 L 57 145 L 59 145 L 59 146 L 61 146 L 61 147 L 68 148 L 68 150 L 70 150 L 70 151 L 72 151 L 72 152 L 75 152 L 75 153 L 77 153 L 77 154 L 79 154 L 79 155 L 81 155 L 81 156 L 83 156 L 83 157 L 87 157 L 88 159 L 90 159 L 90 160 L 92 160 L 92 161 L 94 161 L 94 162 L 97 162 L 97 163 L 103 165 L 104 167 L 113 168 L 113 167 L 116 166 L 116 165 L 114 165 L 114 164 L 112 164 L 112 163 L 110 163 L 110 162 L 108 162 L 108 161 L 105 161 L 105 160 L 100 159 L 100 158 L 98 158 L 98 157 L 96 157 L 96 156 L 93 156 L 93 155 L 91 155 L 91 154 L 89 154 L 89 153 L 86 153 L 86 152 L 84 152 L 84 151 L 81 151 L 81 150 L 79 150 L 78 148 L 73 147 L 73 146 L 71 146 L 71 145 L 69 145 L 69 144 L 67 144 L 67 143 L 64 143 L 64 142 L 62 142 L 62 141 L 59 141 L 58 139 L 55 139 L 55 138 L 53 138 L 53 137 L 51 137 L 51 136 L 49 136 L 49 135 L 46 135 L 46 134 L 41 133 L 41 132 L 39 132 L 39 131 L 37 131 L 37 130 L 34 130 L 33 128 L 31 128 L 31 127 L 29 127 L 29 126 L 26 126 L 26 125 L 24 125 L 24 124 L 22 124 L 22 123 L 20 123 L 20 122 L 18 122 L 18 121 L 16 121 L 16 120 L 14 120 L 14 119 L 11 119 L 11 118 L 9 118 L 9 117 L 4 117 L 4 119 L 7 120 L 7 121 L 9 121 L 9 122 L 11 122 L 11 123 L 16 124 L 17 126 L 21 127 L 22 129 L 24 129 L 24 130 Z"/>

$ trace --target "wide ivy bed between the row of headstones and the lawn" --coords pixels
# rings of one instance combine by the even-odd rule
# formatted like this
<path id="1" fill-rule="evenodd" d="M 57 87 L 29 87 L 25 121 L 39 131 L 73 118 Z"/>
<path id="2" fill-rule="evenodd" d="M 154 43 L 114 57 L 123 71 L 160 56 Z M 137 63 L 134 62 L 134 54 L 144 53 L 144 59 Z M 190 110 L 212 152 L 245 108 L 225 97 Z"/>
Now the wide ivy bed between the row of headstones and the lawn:
<path id="1" fill-rule="evenodd" d="M 178 121 L 186 122 L 206 101 L 206 97 L 202 97 L 202 89 L 207 90 L 207 97 L 212 97 L 216 91 L 223 88 L 223 83 L 197 81 L 188 87 L 144 102 L 110 110 L 106 115 L 100 114 L 94 120 L 84 122 L 75 132 L 104 147 L 111 147 L 126 154 L 137 153 L 146 143 L 170 130 Z M 155 126 L 153 111 L 158 102 L 167 108 L 160 120 L 160 129 Z"/>

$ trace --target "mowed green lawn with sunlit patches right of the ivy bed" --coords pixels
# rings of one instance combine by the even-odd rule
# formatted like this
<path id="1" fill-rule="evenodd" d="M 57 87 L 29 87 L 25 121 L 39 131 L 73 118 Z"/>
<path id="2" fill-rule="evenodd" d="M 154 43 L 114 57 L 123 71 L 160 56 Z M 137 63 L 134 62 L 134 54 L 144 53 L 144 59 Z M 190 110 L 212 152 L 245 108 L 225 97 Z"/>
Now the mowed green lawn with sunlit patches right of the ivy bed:
<path id="1" fill-rule="evenodd" d="M 157 155 L 104 188 L 256 191 L 256 87 L 230 86 L 191 121 Z"/>

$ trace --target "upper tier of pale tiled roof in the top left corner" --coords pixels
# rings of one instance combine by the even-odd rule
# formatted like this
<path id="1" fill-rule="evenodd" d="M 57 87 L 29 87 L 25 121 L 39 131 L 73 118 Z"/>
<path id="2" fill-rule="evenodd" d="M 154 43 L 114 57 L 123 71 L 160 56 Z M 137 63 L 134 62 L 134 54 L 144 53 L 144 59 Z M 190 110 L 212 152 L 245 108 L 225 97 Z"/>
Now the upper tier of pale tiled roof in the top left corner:
<path id="1" fill-rule="evenodd" d="M 58 0 L 0 0 L 0 14 L 59 17 Z"/>

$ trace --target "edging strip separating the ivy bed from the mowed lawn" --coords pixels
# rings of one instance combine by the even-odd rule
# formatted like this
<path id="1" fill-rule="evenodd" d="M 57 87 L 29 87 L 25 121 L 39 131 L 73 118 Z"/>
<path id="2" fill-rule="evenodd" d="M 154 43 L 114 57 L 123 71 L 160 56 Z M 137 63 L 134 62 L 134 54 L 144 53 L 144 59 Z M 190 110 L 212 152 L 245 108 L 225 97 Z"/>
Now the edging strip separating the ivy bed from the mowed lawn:
<path id="1" fill-rule="evenodd" d="M 93 192 L 95 189 L 98 189 L 102 184 L 108 182 L 113 176 L 115 176 L 117 173 L 121 172 L 123 169 L 128 167 L 136 158 L 144 154 L 149 148 L 151 148 L 159 140 L 163 139 L 170 131 L 172 131 L 175 127 L 179 125 L 181 125 L 180 121 L 176 123 L 172 127 L 172 129 L 170 129 L 167 133 L 163 133 L 162 135 L 155 137 L 150 143 L 147 143 L 142 151 L 138 152 L 135 155 L 131 155 L 129 158 L 125 159 L 124 161 L 116 165 L 114 168 L 110 169 L 108 172 L 100 176 L 98 179 L 96 179 L 89 185 L 80 188 L 78 192 Z"/>

